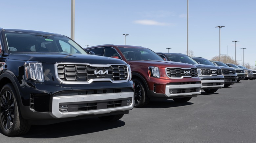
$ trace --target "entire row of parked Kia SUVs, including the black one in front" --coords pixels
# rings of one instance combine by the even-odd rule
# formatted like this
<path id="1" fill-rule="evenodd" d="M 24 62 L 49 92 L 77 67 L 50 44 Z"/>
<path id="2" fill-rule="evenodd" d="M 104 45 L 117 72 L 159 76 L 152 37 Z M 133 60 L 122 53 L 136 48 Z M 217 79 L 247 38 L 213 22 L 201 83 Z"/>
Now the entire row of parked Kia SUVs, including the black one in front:
<path id="1" fill-rule="evenodd" d="M 60 34 L 0 28 L 1 133 L 92 117 L 116 121 L 151 99 L 188 102 L 202 89 L 213 93 L 254 74 L 206 61 L 139 46 L 83 49 Z"/>

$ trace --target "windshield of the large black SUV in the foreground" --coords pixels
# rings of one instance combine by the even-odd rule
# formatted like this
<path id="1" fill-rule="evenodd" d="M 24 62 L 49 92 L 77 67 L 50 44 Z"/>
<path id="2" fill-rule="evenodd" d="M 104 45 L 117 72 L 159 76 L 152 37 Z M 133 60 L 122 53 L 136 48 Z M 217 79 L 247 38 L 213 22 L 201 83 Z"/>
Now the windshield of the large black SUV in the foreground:
<path id="1" fill-rule="evenodd" d="M 5 32 L 9 53 L 58 52 L 87 54 L 73 40 L 61 35 Z"/>

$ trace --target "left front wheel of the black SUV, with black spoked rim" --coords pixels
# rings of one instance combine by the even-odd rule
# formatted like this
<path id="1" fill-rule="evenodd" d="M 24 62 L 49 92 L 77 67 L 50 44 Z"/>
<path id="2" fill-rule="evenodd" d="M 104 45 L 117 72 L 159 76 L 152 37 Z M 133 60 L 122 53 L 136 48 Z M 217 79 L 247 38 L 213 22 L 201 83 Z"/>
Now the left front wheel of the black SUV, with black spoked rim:
<path id="1" fill-rule="evenodd" d="M 27 120 L 21 117 L 16 92 L 11 84 L 6 84 L 0 92 L 0 127 L 7 136 L 17 136 L 29 131 Z"/>

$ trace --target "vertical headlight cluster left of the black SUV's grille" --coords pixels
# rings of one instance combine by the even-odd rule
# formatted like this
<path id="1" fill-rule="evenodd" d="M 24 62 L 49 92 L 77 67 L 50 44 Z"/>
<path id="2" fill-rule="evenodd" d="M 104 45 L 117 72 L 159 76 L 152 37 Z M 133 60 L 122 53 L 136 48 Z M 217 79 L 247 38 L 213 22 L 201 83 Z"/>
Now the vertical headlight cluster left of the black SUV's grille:
<path id="1" fill-rule="evenodd" d="M 25 79 L 43 82 L 44 73 L 42 63 L 36 61 L 25 62 Z"/>

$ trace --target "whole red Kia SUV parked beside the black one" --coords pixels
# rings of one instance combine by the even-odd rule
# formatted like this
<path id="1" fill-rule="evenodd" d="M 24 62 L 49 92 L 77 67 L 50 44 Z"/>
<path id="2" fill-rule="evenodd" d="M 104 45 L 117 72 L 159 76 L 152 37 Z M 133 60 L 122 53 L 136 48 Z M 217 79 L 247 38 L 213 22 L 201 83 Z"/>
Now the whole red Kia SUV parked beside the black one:
<path id="1" fill-rule="evenodd" d="M 165 61 L 140 46 L 108 44 L 84 49 L 98 56 L 122 59 L 131 66 L 135 107 L 145 106 L 149 99 L 156 98 L 187 102 L 201 93 L 201 79 L 194 65 Z"/>

